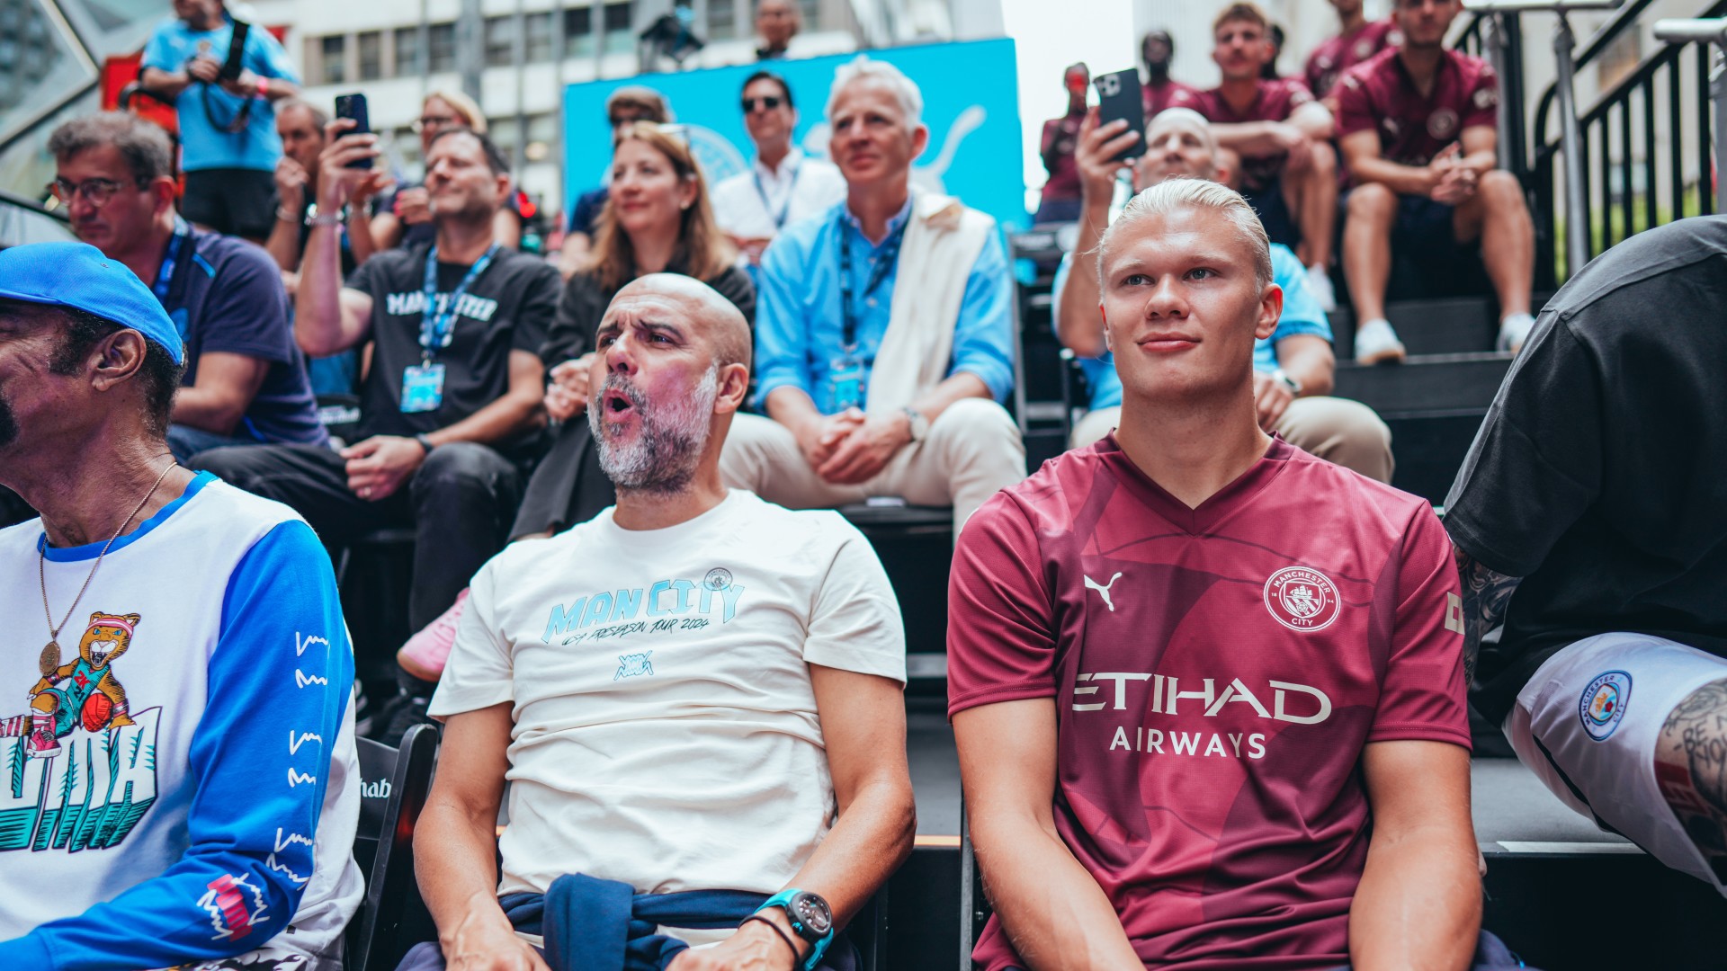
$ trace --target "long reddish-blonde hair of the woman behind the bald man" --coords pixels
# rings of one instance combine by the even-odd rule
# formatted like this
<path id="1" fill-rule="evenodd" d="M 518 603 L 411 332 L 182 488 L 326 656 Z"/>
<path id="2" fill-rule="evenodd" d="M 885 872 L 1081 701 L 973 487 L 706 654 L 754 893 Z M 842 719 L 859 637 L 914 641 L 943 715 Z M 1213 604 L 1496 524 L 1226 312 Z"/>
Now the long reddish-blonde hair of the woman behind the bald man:
<path id="1" fill-rule="evenodd" d="M 696 157 L 689 154 L 689 145 L 667 126 L 653 121 L 632 121 L 620 128 L 617 143 L 622 147 L 630 140 L 642 142 L 665 155 L 672 162 L 672 171 L 696 187 L 696 199 L 689 209 L 684 209 L 677 226 L 677 249 L 672 251 L 672 263 L 682 263 L 689 276 L 703 282 L 725 273 L 737 259 L 737 249 L 713 219 L 708 183 L 701 176 L 701 168 L 696 166 Z M 617 290 L 641 275 L 636 268 L 636 245 L 630 244 L 630 235 L 618 226 L 615 202 L 615 197 L 606 199 L 599 226 L 594 232 L 594 252 L 587 263 L 587 271 L 604 290 Z"/>

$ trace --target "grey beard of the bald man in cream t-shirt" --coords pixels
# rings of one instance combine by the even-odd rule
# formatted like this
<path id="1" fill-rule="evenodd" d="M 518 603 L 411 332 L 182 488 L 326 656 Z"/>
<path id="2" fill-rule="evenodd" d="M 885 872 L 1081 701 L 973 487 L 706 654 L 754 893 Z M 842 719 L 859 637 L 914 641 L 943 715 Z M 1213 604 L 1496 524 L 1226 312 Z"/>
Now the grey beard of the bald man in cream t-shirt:
<path id="1" fill-rule="evenodd" d="M 587 409 L 587 425 L 599 447 L 599 468 L 620 491 L 670 496 L 682 492 L 696 475 L 701 449 L 708 444 L 713 403 L 720 396 L 720 366 L 713 365 L 689 396 L 649 406 L 629 378 L 611 373 Z M 618 390 L 630 399 L 641 418 L 634 442 L 608 439 L 604 394 Z"/>

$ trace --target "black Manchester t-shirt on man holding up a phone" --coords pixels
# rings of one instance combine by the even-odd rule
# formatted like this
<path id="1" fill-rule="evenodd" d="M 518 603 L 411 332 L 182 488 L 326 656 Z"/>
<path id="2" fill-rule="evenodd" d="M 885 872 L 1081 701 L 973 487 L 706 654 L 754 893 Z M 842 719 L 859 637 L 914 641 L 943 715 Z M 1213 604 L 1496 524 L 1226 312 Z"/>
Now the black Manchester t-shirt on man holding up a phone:
<path id="1" fill-rule="evenodd" d="M 421 363 L 427 251 L 392 249 L 363 263 L 345 287 L 371 297 L 371 370 L 359 389 L 361 435 L 418 435 L 454 425 L 509 389 L 509 352 L 539 354 L 558 308 L 558 271 L 535 256 L 499 249 L 458 306 L 444 365 L 444 401 L 435 411 L 402 411 L 402 375 Z M 465 263 L 437 266 L 439 302 L 468 273 Z"/>

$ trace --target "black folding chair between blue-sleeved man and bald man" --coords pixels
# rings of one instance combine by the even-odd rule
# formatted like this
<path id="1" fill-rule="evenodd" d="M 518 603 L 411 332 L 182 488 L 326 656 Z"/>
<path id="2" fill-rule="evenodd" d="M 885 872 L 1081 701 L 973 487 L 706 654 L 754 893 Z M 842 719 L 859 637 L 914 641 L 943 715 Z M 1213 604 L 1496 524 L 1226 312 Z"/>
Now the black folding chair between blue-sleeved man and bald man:
<path id="1" fill-rule="evenodd" d="M 359 831 L 354 860 L 366 873 L 366 900 L 347 926 L 347 971 L 390 971 L 421 940 L 432 916 L 414 883 L 414 824 L 432 790 L 437 729 L 413 726 L 401 748 L 357 739 Z"/>

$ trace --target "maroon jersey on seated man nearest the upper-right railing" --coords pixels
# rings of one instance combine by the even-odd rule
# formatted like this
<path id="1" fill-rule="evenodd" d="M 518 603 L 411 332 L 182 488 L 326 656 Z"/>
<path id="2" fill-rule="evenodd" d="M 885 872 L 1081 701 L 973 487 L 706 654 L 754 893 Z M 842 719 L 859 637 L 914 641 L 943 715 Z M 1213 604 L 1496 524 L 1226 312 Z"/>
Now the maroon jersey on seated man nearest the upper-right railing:
<path id="1" fill-rule="evenodd" d="M 1480 57 L 1445 50 L 1433 92 L 1421 97 L 1397 50 L 1385 50 L 1344 73 L 1337 85 L 1337 135 L 1380 133 L 1380 155 L 1404 166 L 1425 166 L 1464 128 L 1492 128 L 1499 109 L 1499 76 Z"/>

